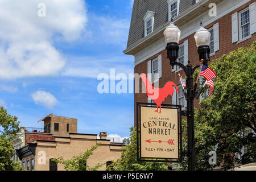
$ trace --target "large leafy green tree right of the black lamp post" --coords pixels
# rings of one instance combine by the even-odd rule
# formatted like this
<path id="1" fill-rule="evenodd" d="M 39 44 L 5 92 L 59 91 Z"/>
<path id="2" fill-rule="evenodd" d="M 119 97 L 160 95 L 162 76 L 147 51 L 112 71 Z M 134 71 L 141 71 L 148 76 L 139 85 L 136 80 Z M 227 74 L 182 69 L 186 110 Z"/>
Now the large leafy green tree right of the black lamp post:
<path id="1" fill-rule="evenodd" d="M 230 169 L 238 164 L 256 162 L 256 136 L 252 133 L 246 137 L 243 135 L 246 127 L 256 133 L 255 48 L 256 42 L 223 55 L 209 65 L 216 69 L 217 78 L 214 79 L 212 95 L 201 100 L 201 109 L 195 109 L 197 170 L 216 166 Z M 184 141 L 187 140 L 186 124 L 183 123 Z M 242 155 L 243 146 L 247 147 L 247 152 Z M 209 152 L 213 150 L 217 154 L 216 165 L 209 164 Z M 186 160 L 184 158 L 181 169 L 187 168 Z"/>

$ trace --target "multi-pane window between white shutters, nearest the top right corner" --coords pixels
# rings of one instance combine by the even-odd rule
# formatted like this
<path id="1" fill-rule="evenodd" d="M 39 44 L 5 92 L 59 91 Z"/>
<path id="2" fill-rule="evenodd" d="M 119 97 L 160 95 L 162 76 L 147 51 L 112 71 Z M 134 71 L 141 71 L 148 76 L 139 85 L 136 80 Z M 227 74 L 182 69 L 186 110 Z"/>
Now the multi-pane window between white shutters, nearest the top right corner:
<path id="1" fill-rule="evenodd" d="M 240 13 L 240 36 L 241 39 L 250 35 L 250 9 Z"/>

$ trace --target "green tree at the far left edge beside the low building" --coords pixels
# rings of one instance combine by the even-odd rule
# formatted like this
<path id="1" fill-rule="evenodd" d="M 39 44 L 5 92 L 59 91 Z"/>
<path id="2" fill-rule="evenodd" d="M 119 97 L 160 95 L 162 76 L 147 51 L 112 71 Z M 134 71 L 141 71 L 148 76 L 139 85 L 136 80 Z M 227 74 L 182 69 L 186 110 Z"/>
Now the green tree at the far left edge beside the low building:
<path id="1" fill-rule="evenodd" d="M 14 155 L 13 139 L 19 131 L 18 118 L 7 114 L 7 110 L 0 110 L 0 171 L 22 170 L 19 163 L 11 158 Z"/>

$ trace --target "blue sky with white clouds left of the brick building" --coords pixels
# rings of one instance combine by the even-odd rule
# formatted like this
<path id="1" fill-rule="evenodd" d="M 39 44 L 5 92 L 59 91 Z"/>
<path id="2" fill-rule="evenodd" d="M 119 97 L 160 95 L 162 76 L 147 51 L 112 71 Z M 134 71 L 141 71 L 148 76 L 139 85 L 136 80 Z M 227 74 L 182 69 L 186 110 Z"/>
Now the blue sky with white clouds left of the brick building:
<path id="1" fill-rule="evenodd" d="M 46 16 L 38 15 L 42 2 Z M 43 127 L 36 121 L 53 113 L 77 118 L 79 133 L 129 136 L 134 95 L 98 93 L 97 76 L 134 71 L 133 56 L 122 52 L 132 3 L 0 2 L 0 104 L 20 126 Z"/>

